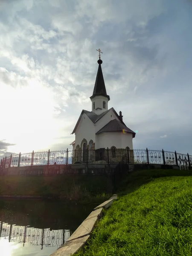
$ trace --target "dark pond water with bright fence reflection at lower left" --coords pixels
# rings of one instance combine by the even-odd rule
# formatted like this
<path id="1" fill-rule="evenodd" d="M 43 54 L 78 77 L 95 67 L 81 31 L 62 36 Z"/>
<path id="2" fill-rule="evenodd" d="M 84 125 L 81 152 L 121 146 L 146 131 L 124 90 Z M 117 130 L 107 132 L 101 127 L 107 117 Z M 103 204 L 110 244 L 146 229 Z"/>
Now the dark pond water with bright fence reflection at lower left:
<path id="1" fill-rule="evenodd" d="M 71 201 L 0 199 L 0 256 L 49 256 L 94 207 Z"/>

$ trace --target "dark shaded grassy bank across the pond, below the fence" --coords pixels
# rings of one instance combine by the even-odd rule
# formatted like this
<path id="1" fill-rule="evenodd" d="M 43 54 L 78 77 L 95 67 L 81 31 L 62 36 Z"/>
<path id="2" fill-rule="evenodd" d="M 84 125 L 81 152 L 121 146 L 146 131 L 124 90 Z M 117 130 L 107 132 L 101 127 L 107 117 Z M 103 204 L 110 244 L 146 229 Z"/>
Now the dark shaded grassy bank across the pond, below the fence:
<path id="1" fill-rule="evenodd" d="M 112 180 L 107 175 L 0 176 L 0 197 L 7 198 L 100 201 L 109 198 L 112 190 Z"/>

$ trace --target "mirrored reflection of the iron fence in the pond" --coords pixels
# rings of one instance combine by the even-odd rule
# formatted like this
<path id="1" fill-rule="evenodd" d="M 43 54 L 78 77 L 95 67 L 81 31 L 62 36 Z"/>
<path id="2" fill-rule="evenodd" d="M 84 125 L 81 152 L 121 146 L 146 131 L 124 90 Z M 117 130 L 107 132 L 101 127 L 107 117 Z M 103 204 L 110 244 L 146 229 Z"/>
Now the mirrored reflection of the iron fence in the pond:
<path id="1" fill-rule="evenodd" d="M 23 246 L 40 245 L 43 247 L 61 246 L 70 237 L 70 230 L 39 229 L 30 226 L 17 226 L 0 222 L 0 238 L 8 239 L 9 242 L 23 243 Z"/>

